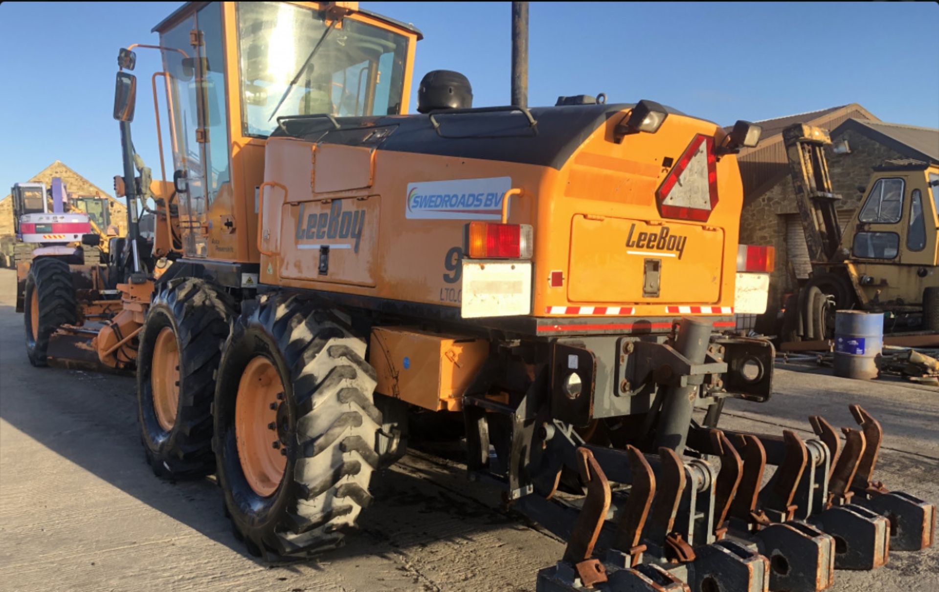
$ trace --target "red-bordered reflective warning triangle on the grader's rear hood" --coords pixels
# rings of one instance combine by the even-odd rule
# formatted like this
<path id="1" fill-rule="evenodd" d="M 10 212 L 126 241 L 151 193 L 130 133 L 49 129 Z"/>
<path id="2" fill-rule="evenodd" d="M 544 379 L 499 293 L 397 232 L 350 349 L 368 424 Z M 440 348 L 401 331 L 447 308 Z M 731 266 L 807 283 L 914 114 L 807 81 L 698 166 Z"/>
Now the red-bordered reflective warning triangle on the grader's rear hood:
<path id="1" fill-rule="evenodd" d="M 703 222 L 711 216 L 717 205 L 714 138 L 699 133 L 691 140 L 655 192 L 655 198 L 665 218 Z"/>

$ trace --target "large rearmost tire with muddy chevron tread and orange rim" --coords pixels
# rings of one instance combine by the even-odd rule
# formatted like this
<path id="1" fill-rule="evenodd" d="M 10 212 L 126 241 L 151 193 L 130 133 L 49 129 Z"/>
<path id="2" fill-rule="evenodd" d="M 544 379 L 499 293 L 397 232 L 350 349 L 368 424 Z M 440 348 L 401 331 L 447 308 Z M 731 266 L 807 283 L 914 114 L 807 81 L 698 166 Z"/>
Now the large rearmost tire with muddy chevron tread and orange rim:
<path id="1" fill-rule="evenodd" d="M 233 324 L 219 367 L 212 443 L 227 513 L 250 553 L 280 561 L 339 547 L 371 502 L 382 417 L 365 348 L 347 319 L 296 298 L 262 298 Z M 243 380 L 257 363 L 275 369 L 266 376 L 279 377 L 278 388 Z M 239 412 L 239 399 L 247 405 L 257 393 L 272 400 L 252 407 L 257 413 Z M 265 475 L 274 479 L 255 478 L 258 458 L 273 466 Z"/>

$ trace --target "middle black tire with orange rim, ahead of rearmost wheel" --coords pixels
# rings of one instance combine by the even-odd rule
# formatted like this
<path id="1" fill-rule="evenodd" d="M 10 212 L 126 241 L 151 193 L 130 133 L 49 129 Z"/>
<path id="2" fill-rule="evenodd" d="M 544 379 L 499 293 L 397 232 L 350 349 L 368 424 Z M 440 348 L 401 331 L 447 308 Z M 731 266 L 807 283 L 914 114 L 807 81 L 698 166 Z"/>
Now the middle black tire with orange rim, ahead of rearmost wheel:
<path id="1" fill-rule="evenodd" d="M 137 355 L 137 417 L 155 475 L 181 479 L 215 470 L 211 405 L 232 308 L 222 289 L 191 278 L 164 284 L 146 313 Z M 175 369 L 169 367 L 174 362 Z"/>

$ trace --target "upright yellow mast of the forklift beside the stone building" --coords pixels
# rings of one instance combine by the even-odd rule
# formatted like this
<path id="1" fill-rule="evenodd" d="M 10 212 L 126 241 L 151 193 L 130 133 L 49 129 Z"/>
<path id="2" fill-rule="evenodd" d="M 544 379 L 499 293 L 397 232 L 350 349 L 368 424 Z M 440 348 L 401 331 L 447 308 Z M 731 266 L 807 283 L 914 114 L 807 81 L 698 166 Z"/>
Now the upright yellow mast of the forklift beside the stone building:
<path id="1" fill-rule="evenodd" d="M 831 136 L 821 128 L 797 123 L 783 130 L 782 139 L 808 257 L 813 264 L 835 261 L 841 240 L 835 204 L 841 196 L 832 191 L 824 158 L 824 146 L 831 144 Z"/>

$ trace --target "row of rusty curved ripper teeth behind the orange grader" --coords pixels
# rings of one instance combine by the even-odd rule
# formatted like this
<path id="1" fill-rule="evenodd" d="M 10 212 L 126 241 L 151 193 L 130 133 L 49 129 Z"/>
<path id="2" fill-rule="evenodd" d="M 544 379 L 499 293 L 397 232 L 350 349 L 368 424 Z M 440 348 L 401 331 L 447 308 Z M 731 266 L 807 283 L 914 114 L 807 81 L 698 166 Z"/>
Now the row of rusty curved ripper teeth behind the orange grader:
<path id="1" fill-rule="evenodd" d="M 935 506 L 875 480 L 883 429 L 860 406 L 851 413 L 857 428 L 841 428 L 843 441 L 819 415 L 808 418 L 815 437 L 806 440 L 793 430 L 692 426 L 689 447 L 719 458 L 719 471 L 709 469 L 710 506 L 694 470 L 701 460 L 669 448 L 577 448 L 586 499 L 564 559 L 539 572 L 538 589 L 818 592 L 834 584 L 835 569 L 877 569 L 890 551 L 930 547 Z M 612 498 L 601 463 L 630 486 L 624 500 L 625 490 Z M 776 471 L 762 485 L 767 464 Z M 613 499 L 615 523 L 606 524 Z"/>

